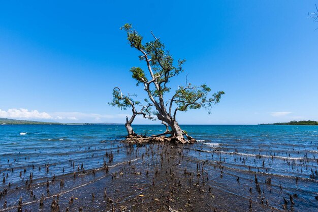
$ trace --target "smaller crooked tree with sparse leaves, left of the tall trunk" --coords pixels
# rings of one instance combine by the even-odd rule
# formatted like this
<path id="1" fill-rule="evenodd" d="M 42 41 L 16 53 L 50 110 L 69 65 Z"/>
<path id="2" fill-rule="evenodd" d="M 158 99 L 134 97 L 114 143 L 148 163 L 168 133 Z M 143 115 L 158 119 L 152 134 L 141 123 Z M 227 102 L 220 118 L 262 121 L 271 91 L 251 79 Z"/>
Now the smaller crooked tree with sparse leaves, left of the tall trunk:
<path id="1" fill-rule="evenodd" d="M 148 100 L 145 100 L 147 105 L 141 106 L 140 105 L 141 103 L 139 101 L 134 101 L 132 99 L 132 96 L 136 96 L 136 95 L 127 95 L 127 96 L 123 95 L 119 87 L 115 87 L 113 89 L 113 101 L 108 103 L 111 106 L 117 106 L 123 110 L 126 110 L 129 107 L 132 108 L 132 112 L 133 112 L 132 117 L 128 118 L 128 116 L 126 116 L 126 123 L 125 123 L 128 137 L 137 136 L 137 134 L 135 133 L 132 127 L 132 123 L 134 122 L 134 119 L 137 115 L 143 115 L 144 118 L 154 119 L 151 115 L 152 104 L 149 103 Z M 136 106 L 141 106 L 141 109 L 138 111 L 136 109 Z"/>

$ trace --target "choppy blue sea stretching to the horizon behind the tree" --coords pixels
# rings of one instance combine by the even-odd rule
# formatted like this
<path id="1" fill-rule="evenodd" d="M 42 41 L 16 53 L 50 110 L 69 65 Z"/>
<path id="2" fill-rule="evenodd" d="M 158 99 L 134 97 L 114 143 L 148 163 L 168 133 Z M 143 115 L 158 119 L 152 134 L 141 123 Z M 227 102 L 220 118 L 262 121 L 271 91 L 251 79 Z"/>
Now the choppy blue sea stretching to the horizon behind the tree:
<path id="1" fill-rule="evenodd" d="M 241 160 L 245 158 L 242 169 L 270 167 L 270 173 L 301 177 L 310 177 L 311 169 L 317 166 L 318 126 L 184 125 L 182 128 L 199 141 L 191 148 L 224 155 L 223 162 L 228 166 L 242 165 L 233 160 L 241 157 Z M 165 131 L 161 125 L 135 125 L 134 129 L 146 135 Z M 54 162 L 56 170 L 50 173 L 56 175 L 61 174 L 62 167 L 72 158 L 77 164 L 85 162 L 85 168 L 90 169 L 96 163 L 87 158 L 102 156 L 105 149 L 112 148 L 114 142 L 125 135 L 123 125 L 1 125 L 0 170 L 2 173 L 12 168 L 17 170 L 8 177 L 8 181 L 14 183 L 20 179 L 20 167 L 34 165 L 38 169 Z M 117 145 L 122 143 L 116 142 Z M 192 154 L 196 157 L 196 152 Z M 264 166 L 260 160 L 254 161 L 256 155 L 266 158 Z M 277 160 L 269 166 L 272 157 Z M 296 163 L 293 167 L 286 166 L 287 160 Z M 65 167 L 65 172 L 68 171 L 73 169 Z M 43 172 L 35 175 L 42 177 Z"/>

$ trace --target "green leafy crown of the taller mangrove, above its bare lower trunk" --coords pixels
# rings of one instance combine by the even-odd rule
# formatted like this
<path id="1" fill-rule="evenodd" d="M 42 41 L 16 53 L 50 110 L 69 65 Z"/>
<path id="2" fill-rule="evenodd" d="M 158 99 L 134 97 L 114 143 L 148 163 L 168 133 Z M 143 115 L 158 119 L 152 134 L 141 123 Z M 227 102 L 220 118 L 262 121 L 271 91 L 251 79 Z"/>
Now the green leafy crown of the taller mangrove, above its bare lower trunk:
<path id="1" fill-rule="evenodd" d="M 175 103 L 177 107 L 175 108 L 173 119 L 175 119 L 177 110 L 187 111 L 188 109 L 200 109 L 203 107 L 208 109 L 208 112 L 210 113 L 211 107 L 219 103 L 220 98 L 225 93 L 219 91 L 209 96 L 211 88 L 206 84 L 200 86 L 193 86 L 191 84 L 187 84 L 185 87 L 181 86 L 176 90 L 176 94 L 173 98 L 170 101 L 165 102 L 164 95 L 171 90 L 168 83 L 171 78 L 183 72 L 185 59 L 179 59 L 175 62 L 170 52 L 165 49 L 165 44 L 161 42 L 160 38 L 156 38 L 152 32 L 151 35 L 154 39 L 143 44 L 143 37 L 133 28 L 132 24 L 126 23 L 120 29 L 127 33 L 127 39 L 131 47 L 137 49 L 141 53 L 139 59 L 146 62 L 149 72 L 148 76 L 150 76 L 149 80 L 147 79 L 144 70 L 139 67 L 133 67 L 130 71 L 132 72 L 132 77 L 137 80 L 137 85 L 139 85 L 139 83 L 145 84 L 144 89 L 148 93 L 149 100 L 151 100 L 153 106 L 156 107 L 157 113 L 167 111 L 166 108 L 163 107 L 165 107 L 165 104 L 167 106 L 170 101 L 169 113 L 166 115 L 172 115 L 172 105 Z M 114 98 L 116 95 L 117 94 L 114 94 Z M 119 104 L 116 102 L 116 98 L 113 102 L 114 101 L 115 105 L 122 108 L 125 108 L 130 104 L 129 101 L 126 100 L 122 100 Z M 150 116 L 148 109 L 149 107 L 147 107 L 147 112 L 142 110 L 140 113 L 143 115 L 148 114 L 148 116 Z M 155 114 L 154 112 L 151 113 Z"/>

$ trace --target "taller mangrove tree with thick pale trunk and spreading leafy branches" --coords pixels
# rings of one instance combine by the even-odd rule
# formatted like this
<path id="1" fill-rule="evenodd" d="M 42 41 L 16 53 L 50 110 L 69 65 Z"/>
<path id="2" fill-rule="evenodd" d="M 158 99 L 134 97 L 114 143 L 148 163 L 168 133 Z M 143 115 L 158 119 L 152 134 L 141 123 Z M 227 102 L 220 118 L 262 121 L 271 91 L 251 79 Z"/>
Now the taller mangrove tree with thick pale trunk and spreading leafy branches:
<path id="1" fill-rule="evenodd" d="M 165 45 L 160 38 L 156 38 L 152 32 L 153 40 L 144 44 L 143 37 L 131 24 L 125 24 L 120 29 L 126 32 L 130 46 L 139 51 L 139 59 L 145 62 L 148 74 L 140 67 L 132 67 L 130 71 L 132 77 L 137 80 L 137 85 L 144 86 L 148 102 L 155 109 L 153 114 L 167 126 L 164 134 L 170 134 L 169 138 L 173 142 L 195 142 L 194 138 L 180 128 L 176 119 L 177 111 L 206 108 L 210 113 L 210 109 L 219 103 L 221 96 L 225 93 L 219 91 L 209 97 L 211 88 L 206 84 L 194 86 L 186 83 L 185 86 L 179 86 L 174 95 L 169 98 L 167 95 L 171 91 L 170 79 L 183 72 L 182 65 L 185 60 L 179 59 L 175 62 L 170 52 L 165 50 Z M 168 101 L 167 98 L 169 98 Z M 132 102 L 126 102 L 133 106 Z"/>

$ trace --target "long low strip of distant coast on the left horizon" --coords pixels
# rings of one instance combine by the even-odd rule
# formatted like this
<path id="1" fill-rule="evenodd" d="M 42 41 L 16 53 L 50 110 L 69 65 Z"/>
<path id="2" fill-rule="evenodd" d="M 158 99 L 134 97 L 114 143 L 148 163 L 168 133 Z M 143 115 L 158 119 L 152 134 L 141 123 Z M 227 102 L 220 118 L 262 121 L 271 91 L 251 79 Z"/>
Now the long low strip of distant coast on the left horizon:
<path id="1" fill-rule="evenodd" d="M 63 124 L 57 122 L 36 122 L 34 120 L 17 120 L 11 118 L 0 118 L 0 125 L 123 125 L 118 123 L 72 123 Z"/>

